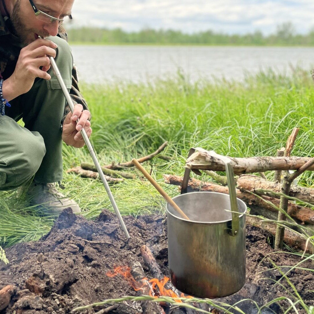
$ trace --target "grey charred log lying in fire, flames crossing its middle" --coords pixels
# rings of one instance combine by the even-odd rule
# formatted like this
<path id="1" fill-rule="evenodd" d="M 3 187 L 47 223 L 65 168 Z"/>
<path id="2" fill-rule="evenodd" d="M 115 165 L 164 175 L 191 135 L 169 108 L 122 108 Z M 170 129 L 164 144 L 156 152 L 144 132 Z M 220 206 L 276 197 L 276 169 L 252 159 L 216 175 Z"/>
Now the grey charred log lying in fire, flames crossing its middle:
<path id="1" fill-rule="evenodd" d="M 149 295 L 149 292 L 153 292 L 148 280 L 144 279 L 146 276 L 141 264 L 139 262 L 130 262 L 129 267 L 134 280 L 139 284 L 143 284 L 143 287 L 137 291 L 137 295 Z M 163 312 L 158 303 L 151 301 L 141 301 L 140 303 L 143 314 L 162 314 Z"/>

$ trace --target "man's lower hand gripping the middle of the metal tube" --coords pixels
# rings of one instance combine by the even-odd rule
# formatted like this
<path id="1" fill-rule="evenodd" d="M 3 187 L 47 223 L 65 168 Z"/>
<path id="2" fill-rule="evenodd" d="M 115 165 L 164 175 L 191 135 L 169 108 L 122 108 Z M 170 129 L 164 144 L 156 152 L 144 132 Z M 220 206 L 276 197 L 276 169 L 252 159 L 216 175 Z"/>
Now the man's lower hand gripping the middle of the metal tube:
<path id="1" fill-rule="evenodd" d="M 83 106 L 77 104 L 74 106 L 73 114 L 69 112 L 63 122 L 62 127 L 62 140 L 64 143 L 81 148 L 85 145 L 84 138 L 81 134 L 81 130 L 84 128 L 88 138 L 92 133 L 90 127 L 90 122 L 87 120 L 89 118 L 89 111 L 83 110 Z M 79 119 L 79 122 L 76 121 Z"/>

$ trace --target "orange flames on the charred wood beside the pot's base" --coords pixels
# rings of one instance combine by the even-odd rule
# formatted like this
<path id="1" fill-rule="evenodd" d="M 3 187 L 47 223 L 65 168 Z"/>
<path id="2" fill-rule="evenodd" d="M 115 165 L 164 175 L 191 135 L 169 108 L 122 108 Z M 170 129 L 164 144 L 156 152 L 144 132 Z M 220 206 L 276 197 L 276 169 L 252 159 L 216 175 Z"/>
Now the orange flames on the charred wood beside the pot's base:
<path id="1" fill-rule="evenodd" d="M 166 289 L 165 284 L 169 281 L 168 277 L 164 277 L 163 279 L 159 280 L 157 278 L 153 278 L 148 280 L 146 277 L 142 278 L 139 281 L 136 281 L 132 274 L 131 270 L 128 266 L 118 266 L 114 268 L 113 273 L 107 272 L 106 275 L 108 277 L 115 277 L 117 275 L 122 275 L 129 284 L 133 287 L 135 291 L 143 292 L 144 288 L 149 287 L 149 295 L 158 298 L 159 296 L 170 296 L 172 298 L 178 298 L 179 296 L 176 295 L 171 289 Z M 189 296 L 185 296 L 181 293 L 180 297 L 188 298 Z M 181 300 L 177 299 L 177 302 L 182 302 Z"/>

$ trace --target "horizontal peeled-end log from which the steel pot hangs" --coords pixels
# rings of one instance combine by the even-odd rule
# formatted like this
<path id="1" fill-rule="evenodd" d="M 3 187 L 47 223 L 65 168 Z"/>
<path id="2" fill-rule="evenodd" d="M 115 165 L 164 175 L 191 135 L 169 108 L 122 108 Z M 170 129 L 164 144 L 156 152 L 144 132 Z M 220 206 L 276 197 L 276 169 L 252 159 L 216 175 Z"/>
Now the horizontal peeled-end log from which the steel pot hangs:
<path id="1" fill-rule="evenodd" d="M 221 156 L 224 158 L 225 156 Z M 311 158 L 308 157 L 251 157 L 232 158 L 231 160 L 235 174 L 265 172 L 269 170 L 297 170 Z M 222 160 L 211 155 L 211 151 L 197 148 L 186 162 L 186 167 L 199 170 L 225 171 Z M 314 165 L 308 170 L 314 170 Z"/>

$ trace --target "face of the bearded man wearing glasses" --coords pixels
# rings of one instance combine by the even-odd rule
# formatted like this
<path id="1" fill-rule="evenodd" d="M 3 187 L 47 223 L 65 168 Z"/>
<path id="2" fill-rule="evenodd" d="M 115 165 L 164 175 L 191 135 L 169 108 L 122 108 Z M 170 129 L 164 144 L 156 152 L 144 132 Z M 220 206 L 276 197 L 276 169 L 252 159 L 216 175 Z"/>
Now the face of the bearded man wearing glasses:
<path id="1" fill-rule="evenodd" d="M 58 19 L 63 19 L 71 14 L 74 0 L 35 0 L 38 10 L 45 12 Z M 58 21 L 45 23 L 37 19 L 29 0 L 16 0 L 11 15 L 14 29 L 21 41 L 28 45 L 32 41 L 49 35 L 56 36 L 58 33 Z"/>

